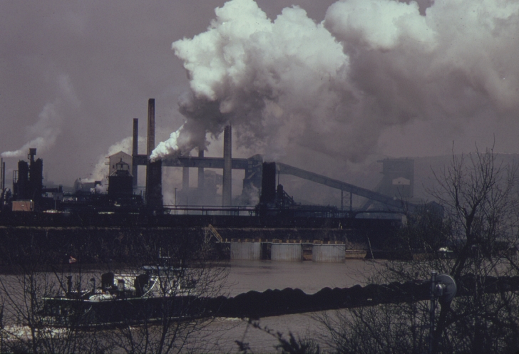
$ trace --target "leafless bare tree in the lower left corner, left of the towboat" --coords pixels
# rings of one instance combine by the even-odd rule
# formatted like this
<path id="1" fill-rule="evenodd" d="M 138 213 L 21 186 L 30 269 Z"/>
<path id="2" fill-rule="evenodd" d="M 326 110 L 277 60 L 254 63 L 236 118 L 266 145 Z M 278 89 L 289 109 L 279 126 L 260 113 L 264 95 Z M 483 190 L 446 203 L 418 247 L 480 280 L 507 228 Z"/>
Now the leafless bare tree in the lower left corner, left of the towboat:
<path id="1" fill-rule="evenodd" d="M 56 323 L 44 316 L 44 298 L 62 291 L 65 278 L 65 274 L 52 271 L 45 251 L 29 240 L 16 247 L 2 246 L 1 256 L 11 270 L 11 274 L 0 276 L 2 353 L 86 353 L 99 349 L 95 335 L 80 330 L 73 318 L 69 326 L 56 328 Z"/>

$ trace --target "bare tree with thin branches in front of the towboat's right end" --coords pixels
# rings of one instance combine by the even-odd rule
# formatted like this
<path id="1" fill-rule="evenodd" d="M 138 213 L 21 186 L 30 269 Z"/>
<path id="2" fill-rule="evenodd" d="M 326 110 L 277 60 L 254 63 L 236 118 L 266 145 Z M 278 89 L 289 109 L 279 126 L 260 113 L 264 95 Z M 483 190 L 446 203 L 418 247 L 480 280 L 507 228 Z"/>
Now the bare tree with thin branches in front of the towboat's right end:
<path id="1" fill-rule="evenodd" d="M 183 229 L 155 244 L 142 241 L 138 266 L 148 264 L 158 293 L 139 314 L 140 323 L 107 332 L 107 342 L 125 353 L 207 350 L 201 333 L 212 317 L 201 315 L 207 298 L 222 295 L 227 269 L 213 261 L 213 246 L 200 229 Z"/>

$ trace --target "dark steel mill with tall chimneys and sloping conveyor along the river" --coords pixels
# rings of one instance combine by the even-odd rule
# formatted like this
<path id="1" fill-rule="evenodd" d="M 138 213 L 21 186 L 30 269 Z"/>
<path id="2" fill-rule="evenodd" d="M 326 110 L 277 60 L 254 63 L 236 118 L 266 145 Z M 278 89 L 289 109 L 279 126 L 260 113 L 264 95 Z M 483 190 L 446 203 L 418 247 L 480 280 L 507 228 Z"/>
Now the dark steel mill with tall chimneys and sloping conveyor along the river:
<path id="1" fill-rule="evenodd" d="M 423 207 L 409 202 L 414 186 L 410 159 L 381 160 L 382 179 L 370 190 L 265 161 L 262 155 L 233 158 L 232 127 L 227 125 L 222 157 L 205 157 L 200 150 L 197 156 L 153 161 L 154 99 L 148 101 L 147 123 L 145 155 L 138 154 L 139 121 L 133 119 L 132 155 L 118 152 L 109 157 L 108 189 L 101 181 L 81 179 L 76 180 L 73 191 L 43 186 L 43 160 L 36 159 L 34 148 L 27 161 L 19 161 L 12 187 L 8 187 L 5 162 L 1 162 L 0 226 L 115 227 L 123 231 L 190 227 L 204 230 L 218 244 L 226 245 L 224 253 L 230 259 L 344 261 L 349 254 L 375 256 L 384 251 L 384 240 L 405 222 L 404 211 Z M 138 188 L 138 166 L 145 167 L 144 190 Z M 163 202 L 163 170 L 168 168 L 183 170 L 183 188 L 175 189 L 173 205 Z M 197 188 L 189 187 L 191 169 L 197 170 Z M 215 170 L 222 170 L 222 175 Z M 245 171 L 240 195 L 232 195 L 232 170 Z M 338 189 L 341 207 L 297 202 L 290 195 L 290 186 L 279 184 L 279 175 Z M 361 207 L 353 207 L 354 195 L 364 198 Z"/>

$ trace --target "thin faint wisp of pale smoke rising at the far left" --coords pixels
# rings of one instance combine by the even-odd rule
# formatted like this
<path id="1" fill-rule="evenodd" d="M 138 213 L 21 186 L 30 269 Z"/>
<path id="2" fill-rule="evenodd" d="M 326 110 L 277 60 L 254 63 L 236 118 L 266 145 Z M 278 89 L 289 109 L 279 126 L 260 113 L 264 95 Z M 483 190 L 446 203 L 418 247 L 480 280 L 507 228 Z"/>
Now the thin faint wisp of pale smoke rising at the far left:
<path id="1" fill-rule="evenodd" d="M 78 107 L 81 104 L 67 75 L 61 74 L 58 76 L 57 84 L 58 98 L 44 105 L 41 113 L 38 115 L 38 121 L 26 128 L 26 135 L 29 141 L 18 150 L 2 152 L 0 154 L 1 157 L 21 158 L 27 155 L 31 147 L 36 147 L 38 152 L 43 152 L 56 143 L 56 139 L 61 133 L 60 126 L 63 120 L 61 110 L 63 106 L 73 105 Z"/>

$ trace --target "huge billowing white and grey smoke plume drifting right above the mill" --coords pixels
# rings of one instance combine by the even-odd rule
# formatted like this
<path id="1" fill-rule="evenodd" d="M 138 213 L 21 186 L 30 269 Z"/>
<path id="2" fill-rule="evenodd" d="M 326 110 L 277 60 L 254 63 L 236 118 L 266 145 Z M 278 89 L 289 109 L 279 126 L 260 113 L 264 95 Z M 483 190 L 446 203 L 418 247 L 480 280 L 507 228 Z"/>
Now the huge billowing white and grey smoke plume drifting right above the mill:
<path id="1" fill-rule="evenodd" d="M 519 114 L 518 1 L 344 0 L 320 24 L 304 9 L 271 21 L 253 0 L 215 9 L 206 32 L 173 43 L 190 78 L 187 121 L 155 157 L 237 143 L 282 157 L 294 147 L 361 161 L 389 127 Z"/>

